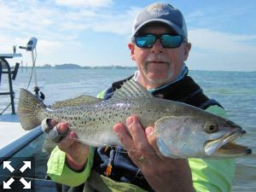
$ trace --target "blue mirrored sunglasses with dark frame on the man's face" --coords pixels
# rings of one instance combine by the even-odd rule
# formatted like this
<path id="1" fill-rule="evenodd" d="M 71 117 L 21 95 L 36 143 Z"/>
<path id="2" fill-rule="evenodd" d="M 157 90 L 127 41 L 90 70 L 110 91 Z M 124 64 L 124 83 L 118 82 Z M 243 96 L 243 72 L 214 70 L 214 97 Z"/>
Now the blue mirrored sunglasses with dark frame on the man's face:
<path id="1" fill-rule="evenodd" d="M 157 39 L 164 48 L 177 48 L 183 43 L 183 36 L 172 34 L 139 34 L 133 38 L 139 48 L 152 48 Z"/>

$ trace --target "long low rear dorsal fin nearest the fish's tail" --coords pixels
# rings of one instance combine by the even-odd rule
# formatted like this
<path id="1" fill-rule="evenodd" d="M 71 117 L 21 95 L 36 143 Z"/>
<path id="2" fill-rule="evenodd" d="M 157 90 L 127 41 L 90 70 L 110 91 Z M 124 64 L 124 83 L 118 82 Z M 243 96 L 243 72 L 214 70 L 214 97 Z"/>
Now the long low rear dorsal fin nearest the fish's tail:
<path id="1" fill-rule="evenodd" d="M 64 107 L 72 107 L 79 106 L 83 104 L 91 104 L 96 102 L 101 102 L 102 99 L 96 98 L 94 96 L 78 96 L 72 99 L 67 99 L 61 102 L 55 102 L 51 105 L 51 108 L 64 108 Z"/>

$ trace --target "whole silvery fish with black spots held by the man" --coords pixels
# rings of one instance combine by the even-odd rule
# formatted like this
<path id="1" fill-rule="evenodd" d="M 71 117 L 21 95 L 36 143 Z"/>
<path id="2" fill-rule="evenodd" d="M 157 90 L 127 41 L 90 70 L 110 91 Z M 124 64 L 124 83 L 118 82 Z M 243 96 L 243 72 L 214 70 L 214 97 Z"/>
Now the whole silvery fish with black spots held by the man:
<path id="1" fill-rule="evenodd" d="M 119 143 L 113 125 L 137 115 L 143 127 L 154 126 L 161 154 L 170 158 L 236 158 L 252 149 L 233 143 L 246 133 L 229 119 L 182 102 L 154 97 L 134 80 L 125 82 L 104 101 L 79 96 L 46 106 L 27 90 L 20 90 L 18 116 L 24 130 L 44 119 L 67 123 L 79 141 L 101 147 Z"/>

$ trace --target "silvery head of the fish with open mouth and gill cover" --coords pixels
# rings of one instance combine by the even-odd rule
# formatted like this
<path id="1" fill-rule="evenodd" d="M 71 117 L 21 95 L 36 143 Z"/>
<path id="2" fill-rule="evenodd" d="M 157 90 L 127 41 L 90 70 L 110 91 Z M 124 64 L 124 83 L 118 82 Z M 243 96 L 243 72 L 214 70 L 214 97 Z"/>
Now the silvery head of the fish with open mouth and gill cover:
<path id="1" fill-rule="evenodd" d="M 235 158 L 252 153 L 231 143 L 246 133 L 239 125 L 216 115 L 167 116 L 157 120 L 154 133 L 160 152 L 171 158 Z"/>

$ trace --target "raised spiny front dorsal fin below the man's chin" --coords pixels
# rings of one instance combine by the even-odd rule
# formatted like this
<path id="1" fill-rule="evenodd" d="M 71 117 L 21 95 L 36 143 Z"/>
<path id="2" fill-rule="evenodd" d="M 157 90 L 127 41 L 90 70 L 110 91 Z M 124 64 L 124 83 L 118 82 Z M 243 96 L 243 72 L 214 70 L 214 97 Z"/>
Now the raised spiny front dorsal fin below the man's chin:
<path id="1" fill-rule="evenodd" d="M 154 97 L 143 85 L 137 83 L 135 80 L 127 80 L 120 89 L 113 92 L 112 99 L 121 98 L 149 98 Z"/>

